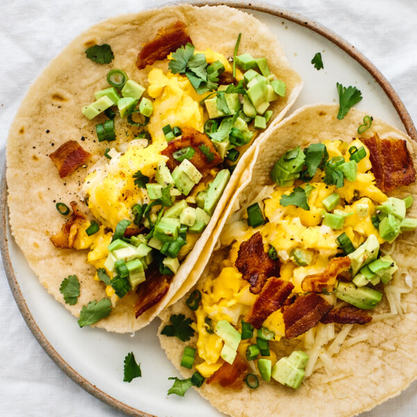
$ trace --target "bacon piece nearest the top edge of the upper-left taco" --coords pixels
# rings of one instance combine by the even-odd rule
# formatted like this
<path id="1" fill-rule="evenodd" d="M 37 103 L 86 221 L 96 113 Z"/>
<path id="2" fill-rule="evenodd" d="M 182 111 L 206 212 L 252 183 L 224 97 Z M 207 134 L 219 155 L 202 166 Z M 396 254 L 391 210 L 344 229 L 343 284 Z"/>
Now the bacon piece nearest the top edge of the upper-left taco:
<path id="1" fill-rule="evenodd" d="M 193 41 L 188 36 L 186 24 L 179 20 L 167 28 L 161 28 L 154 40 L 143 45 L 136 66 L 139 70 L 143 70 L 147 65 L 165 59 L 171 52 L 188 43 L 192 44 Z"/>

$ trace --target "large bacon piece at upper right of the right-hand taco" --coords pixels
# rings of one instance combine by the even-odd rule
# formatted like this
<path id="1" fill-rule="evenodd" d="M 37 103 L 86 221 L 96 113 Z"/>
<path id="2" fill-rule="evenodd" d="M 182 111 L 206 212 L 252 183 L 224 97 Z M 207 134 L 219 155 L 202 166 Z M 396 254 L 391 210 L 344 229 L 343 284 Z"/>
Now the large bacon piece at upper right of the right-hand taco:
<path id="1" fill-rule="evenodd" d="M 373 138 L 359 139 L 369 149 L 372 172 L 379 190 L 386 193 L 416 181 L 416 170 L 405 140 L 379 139 L 377 133 Z"/>

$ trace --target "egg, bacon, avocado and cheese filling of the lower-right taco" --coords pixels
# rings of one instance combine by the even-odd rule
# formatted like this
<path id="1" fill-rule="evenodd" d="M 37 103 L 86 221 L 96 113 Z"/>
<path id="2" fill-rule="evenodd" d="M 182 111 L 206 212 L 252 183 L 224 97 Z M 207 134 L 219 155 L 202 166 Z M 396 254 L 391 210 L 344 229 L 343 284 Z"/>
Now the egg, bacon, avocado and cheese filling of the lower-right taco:
<path id="1" fill-rule="evenodd" d="M 366 331 L 347 338 L 352 327 L 403 315 L 412 279 L 395 239 L 417 219 L 407 217 L 411 195 L 386 193 L 416 179 L 406 142 L 375 133 L 288 149 L 270 179 L 227 223 L 224 249 L 186 301 L 197 344 L 181 366 L 195 366 L 194 385 L 255 389 L 275 379 L 298 389 L 367 340 Z M 389 311 L 373 314 L 384 297 Z M 161 334 L 172 336 L 170 325 Z"/>

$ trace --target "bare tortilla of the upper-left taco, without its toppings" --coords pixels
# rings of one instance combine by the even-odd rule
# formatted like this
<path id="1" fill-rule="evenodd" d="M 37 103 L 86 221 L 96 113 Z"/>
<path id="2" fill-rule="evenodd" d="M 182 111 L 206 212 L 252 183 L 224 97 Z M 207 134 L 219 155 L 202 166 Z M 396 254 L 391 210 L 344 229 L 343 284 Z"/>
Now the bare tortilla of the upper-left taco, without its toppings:
<path id="1" fill-rule="evenodd" d="M 42 285 L 74 316 L 79 316 L 81 306 L 89 301 L 106 297 L 104 284 L 92 279 L 95 268 L 87 263 L 88 251 L 60 250 L 49 240 L 65 220 L 56 211 L 55 203 L 79 200 L 85 176 L 108 146 L 107 142 L 97 141 L 94 131 L 97 122 L 87 120 L 81 114 L 81 107 L 92 101 L 94 92 L 102 88 L 111 68 L 124 70 L 145 87 L 152 67 L 167 70 L 167 60 L 138 70 L 136 58 L 143 44 L 153 40 L 162 27 L 178 20 L 188 26 L 188 34 L 197 50 L 211 48 L 226 57 L 233 56 L 238 33 L 243 32 L 240 50 L 267 57 L 271 72 L 286 83 L 286 97 L 271 104 L 272 117 L 277 121 L 284 117 L 302 88 L 300 76 L 291 69 L 279 42 L 265 24 L 226 6 L 170 6 L 108 19 L 88 29 L 66 47 L 31 86 L 19 108 L 8 137 L 7 183 L 10 226 L 17 244 Z M 115 55 L 110 65 L 98 65 L 85 57 L 85 49 L 104 43 L 111 45 Z M 94 156 L 89 167 L 79 167 L 70 176 L 60 179 L 48 155 L 67 140 L 76 140 Z M 133 313 L 136 297 L 126 295 L 113 308 L 111 316 L 97 322 L 97 327 L 120 333 L 144 327 L 177 293 L 197 260 L 204 263 L 208 259 L 209 252 L 204 245 L 236 188 L 250 152 L 252 150 L 241 158 L 210 224 L 183 261 L 163 300 L 136 320 Z M 84 204 L 80 208 L 86 211 Z M 74 306 L 65 304 L 59 291 L 68 275 L 76 275 L 81 282 L 81 295 Z"/>

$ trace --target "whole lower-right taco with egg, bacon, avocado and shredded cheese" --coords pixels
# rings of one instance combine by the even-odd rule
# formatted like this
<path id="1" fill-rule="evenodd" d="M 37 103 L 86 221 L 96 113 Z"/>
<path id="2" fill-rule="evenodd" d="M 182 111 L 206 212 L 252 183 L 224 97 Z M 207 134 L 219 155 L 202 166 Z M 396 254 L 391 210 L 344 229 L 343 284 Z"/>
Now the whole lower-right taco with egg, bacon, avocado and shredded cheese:
<path id="1" fill-rule="evenodd" d="M 417 145 L 337 115 L 305 106 L 256 145 L 201 279 L 161 314 L 186 378 L 168 393 L 196 386 L 231 416 L 342 417 L 416 378 Z"/>

